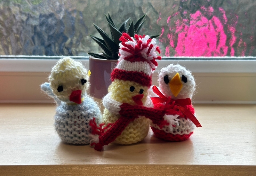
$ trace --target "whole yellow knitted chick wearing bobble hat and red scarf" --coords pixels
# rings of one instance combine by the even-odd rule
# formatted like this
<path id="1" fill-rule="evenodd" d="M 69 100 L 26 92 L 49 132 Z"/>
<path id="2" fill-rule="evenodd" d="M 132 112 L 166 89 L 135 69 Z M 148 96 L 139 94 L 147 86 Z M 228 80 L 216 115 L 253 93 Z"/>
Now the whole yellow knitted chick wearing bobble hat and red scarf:
<path id="1" fill-rule="evenodd" d="M 158 114 L 148 97 L 148 88 L 152 84 L 152 74 L 157 66 L 156 59 L 161 59 L 156 55 L 156 51 L 160 50 L 155 39 L 150 39 L 149 36 L 134 37 L 135 39 L 123 33 L 120 38 L 122 43 L 119 44 L 118 64 L 111 73 L 109 93 L 103 98 L 105 126 L 98 129 L 100 136 L 99 142 L 95 143 L 97 150 L 110 142 L 140 142 L 149 130 L 150 120 L 145 116 Z M 160 121 L 162 116 L 159 115 Z"/>

